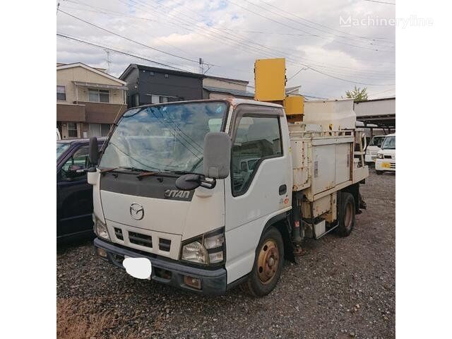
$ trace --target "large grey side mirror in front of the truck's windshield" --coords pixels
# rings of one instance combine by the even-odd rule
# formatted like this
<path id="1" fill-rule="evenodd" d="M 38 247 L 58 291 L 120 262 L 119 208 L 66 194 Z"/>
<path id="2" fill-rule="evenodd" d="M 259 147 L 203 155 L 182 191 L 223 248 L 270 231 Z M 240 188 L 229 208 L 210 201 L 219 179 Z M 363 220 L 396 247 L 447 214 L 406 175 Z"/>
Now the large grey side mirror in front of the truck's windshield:
<path id="1" fill-rule="evenodd" d="M 203 153 L 203 169 L 206 178 L 225 179 L 229 175 L 231 145 L 231 138 L 225 132 L 206 134 Z"/>

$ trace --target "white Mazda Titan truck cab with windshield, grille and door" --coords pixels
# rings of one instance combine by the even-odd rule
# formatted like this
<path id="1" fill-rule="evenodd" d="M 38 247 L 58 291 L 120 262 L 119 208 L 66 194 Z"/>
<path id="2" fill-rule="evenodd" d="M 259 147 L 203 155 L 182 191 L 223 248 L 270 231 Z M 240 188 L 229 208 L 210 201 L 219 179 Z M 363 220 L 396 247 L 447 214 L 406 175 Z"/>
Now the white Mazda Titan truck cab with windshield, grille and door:
<path id="1" fill-rule="evenodd" d="M 227 138 L 206 137 L 218 134 Z M 230 144 L 218 148 L 224 140 Z M 208 100 L 136 107 L 123 114 L 101 153 L 88 173 L 97 253 L 121 268 L 124 258 L 144 256 L 150 278 L 160 283 L 223 294 L 252 270 L 264 228 L 286 220 L 292 208 L 290 139 L 280 105 Z M 268 283 L 283 266 L 278 242 L 272 244 Z"/>

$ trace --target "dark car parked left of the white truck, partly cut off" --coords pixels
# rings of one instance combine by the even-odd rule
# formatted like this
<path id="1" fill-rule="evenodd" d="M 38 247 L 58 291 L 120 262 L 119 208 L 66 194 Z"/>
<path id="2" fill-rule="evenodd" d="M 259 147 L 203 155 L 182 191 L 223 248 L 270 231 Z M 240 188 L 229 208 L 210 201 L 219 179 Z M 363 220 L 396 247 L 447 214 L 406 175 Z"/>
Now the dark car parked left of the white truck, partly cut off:
<path id="1" fill-rule="evenodd" d="M 106 138 L 99 138 L 102 146 Z M 57 141 L 57 240 L 93 234 L 93 186 L 85 169 L 89 140 Z"/>

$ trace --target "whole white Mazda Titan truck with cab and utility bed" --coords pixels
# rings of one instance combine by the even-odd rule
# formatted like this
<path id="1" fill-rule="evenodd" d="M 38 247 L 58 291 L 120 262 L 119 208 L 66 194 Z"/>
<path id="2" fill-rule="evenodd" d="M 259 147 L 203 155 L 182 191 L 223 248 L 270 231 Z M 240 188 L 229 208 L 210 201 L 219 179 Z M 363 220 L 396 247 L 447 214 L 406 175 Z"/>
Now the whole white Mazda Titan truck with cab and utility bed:
<path id="1" fill-rule="evenodd" d="M 304 239 L 352 231 L 369 175 L 355 120 L 352 100 L 306 102 L 295 123 L 254 100 L 129 109 L 90 143 L 96 253 L 184 290 L 267 295 Z"/>

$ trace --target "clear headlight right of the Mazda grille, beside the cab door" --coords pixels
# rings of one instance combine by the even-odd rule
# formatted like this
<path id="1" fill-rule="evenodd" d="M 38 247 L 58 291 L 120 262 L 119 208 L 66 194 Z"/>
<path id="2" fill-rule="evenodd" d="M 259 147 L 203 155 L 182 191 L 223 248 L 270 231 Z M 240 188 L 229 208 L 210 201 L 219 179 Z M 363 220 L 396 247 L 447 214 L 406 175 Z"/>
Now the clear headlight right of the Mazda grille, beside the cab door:
<path id="1" fill-rule="evenodd" d="M 182 260 L 194 263 L 218 264 L 225 260 L 225 229 L 208 232 L 182 246 Z"/>

